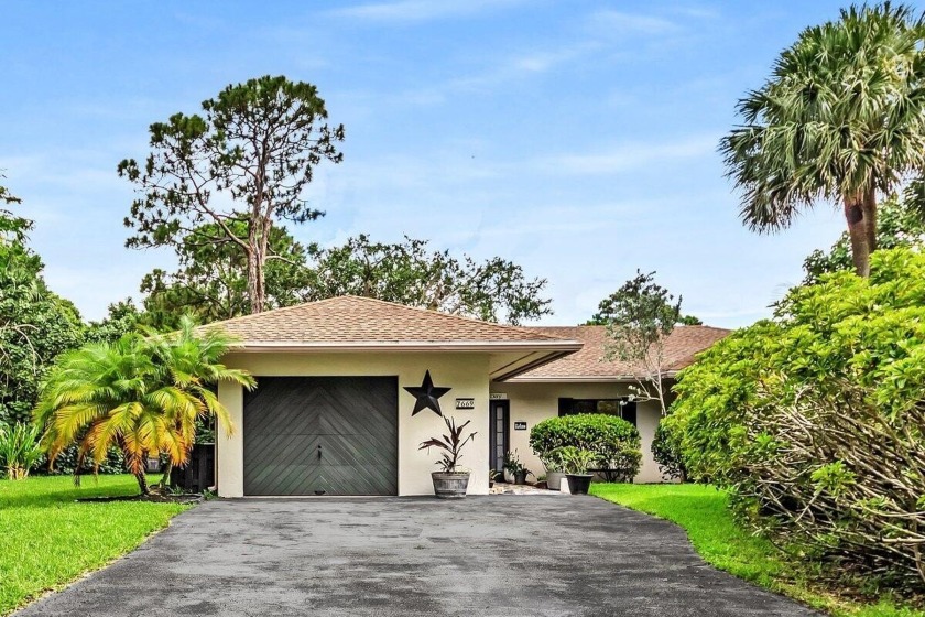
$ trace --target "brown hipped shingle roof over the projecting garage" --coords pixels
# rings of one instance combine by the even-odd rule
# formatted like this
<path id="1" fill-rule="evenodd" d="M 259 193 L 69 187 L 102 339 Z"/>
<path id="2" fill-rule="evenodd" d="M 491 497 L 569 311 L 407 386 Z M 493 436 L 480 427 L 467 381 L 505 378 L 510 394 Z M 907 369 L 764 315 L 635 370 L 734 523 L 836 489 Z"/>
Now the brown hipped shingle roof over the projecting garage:
<path id="1" fill-rule="evenodd" d="M 346 295 L 216 322 L 244 347 L 328 345 L 580 345 L 537 328 L 505 326 L 369 297 Z M 544 345 L 548 344 L 548 345 Z"/>

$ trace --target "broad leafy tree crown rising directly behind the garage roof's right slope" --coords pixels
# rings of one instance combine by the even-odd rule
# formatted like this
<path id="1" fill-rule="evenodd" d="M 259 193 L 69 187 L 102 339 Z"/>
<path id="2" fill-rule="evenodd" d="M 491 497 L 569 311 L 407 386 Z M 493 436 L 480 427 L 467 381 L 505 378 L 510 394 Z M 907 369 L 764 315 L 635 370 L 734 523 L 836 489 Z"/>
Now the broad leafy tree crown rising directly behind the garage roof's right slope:
<path id="1" fill-rule="evenodd" d="M 361 235 L 342 247 L 313 247 L 308 299 L 351 294 L 409 306 L 519 324 L 552 313 L 545 279 L 500 257 L 478 262 L 434 251 L 427 240 L 372 242 Z"/>

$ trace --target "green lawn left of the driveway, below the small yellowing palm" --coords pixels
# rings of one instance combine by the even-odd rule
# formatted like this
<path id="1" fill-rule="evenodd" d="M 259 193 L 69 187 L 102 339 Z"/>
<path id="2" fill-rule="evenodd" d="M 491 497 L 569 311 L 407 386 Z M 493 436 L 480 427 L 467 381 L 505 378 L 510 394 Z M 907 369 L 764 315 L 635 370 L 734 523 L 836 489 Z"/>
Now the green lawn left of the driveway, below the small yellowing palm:
<path id="1" fill-rule="evenodd" d="M 185 506 L 141 501 L 76 502 L 137 495 L 132 476 L 0 480 L 0 616 L 98 570 L 167 526 Z"/>

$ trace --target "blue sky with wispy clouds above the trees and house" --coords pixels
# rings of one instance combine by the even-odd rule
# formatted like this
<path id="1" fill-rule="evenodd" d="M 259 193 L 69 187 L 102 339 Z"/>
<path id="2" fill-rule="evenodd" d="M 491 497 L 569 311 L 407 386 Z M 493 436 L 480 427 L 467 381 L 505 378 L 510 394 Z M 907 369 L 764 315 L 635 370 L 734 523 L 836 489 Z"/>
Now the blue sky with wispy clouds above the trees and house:
<path id="1" fill-rule="evenodd" d="M 117 163 L 148 126 L 230 83 L 312 82 L 347 129 L 293 229 L 304 241 L 429 238 L 547 278 L 570 324 L 656 270 L 709 324 L 740 326 L 799 282 L 844 221 L 777 236 L 738 219 L 716 153 L 734 104 L 839 3 L 394 0 L 3 6 L 0 170 L 35 219 L 51 286 L 85 317 L 139 296 L 167 250 L 123 248 Z"/>

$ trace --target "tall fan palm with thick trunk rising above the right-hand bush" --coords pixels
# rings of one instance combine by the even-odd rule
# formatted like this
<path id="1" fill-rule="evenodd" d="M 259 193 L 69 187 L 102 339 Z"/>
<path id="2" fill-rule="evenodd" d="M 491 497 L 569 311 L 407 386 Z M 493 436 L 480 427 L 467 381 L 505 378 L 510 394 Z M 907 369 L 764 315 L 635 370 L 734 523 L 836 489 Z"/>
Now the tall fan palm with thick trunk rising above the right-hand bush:
<path id="1" fill-rule="evenodd" d="M 720 143 L 753 230 L 788 227 L 840 203 L 857 272 L 870 273 L 878 194 L 925 169 L 925 22 L 903 4 L 842 9 L 784 51 L 739 101 L 743 123 Z"/>

